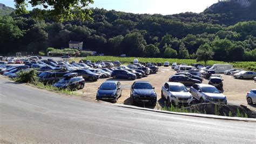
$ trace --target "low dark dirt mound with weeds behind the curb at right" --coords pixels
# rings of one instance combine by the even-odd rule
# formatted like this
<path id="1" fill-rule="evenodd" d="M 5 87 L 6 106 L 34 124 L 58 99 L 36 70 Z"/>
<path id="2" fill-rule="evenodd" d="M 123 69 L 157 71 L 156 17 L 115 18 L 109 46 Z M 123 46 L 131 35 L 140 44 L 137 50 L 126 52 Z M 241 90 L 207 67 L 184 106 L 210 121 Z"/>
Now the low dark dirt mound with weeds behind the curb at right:
<path id="1" fill-rule="evenodd" d="M 239 106 L 204 103 L 185 107 L 185 109 L 190 112 L 214 114 L 218 116 L 256 118 L 256 112 L 248 109 L 247 106 L 244 105 Z"/>

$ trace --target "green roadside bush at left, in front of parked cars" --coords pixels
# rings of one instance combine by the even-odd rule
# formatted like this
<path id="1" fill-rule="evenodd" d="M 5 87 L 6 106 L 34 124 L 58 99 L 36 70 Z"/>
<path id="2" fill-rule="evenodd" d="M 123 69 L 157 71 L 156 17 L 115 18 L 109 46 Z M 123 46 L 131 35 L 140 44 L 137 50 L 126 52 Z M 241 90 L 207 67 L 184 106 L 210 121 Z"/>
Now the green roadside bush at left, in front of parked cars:
<path id="1" fill-rule="evenodd" d="M 31 71 L 23 71 L 21 70 L 17 75 L 16 82 L 20 83 L 37 83 L 38 77 L 37 77 L 37 70 L 31 70 Z"/>

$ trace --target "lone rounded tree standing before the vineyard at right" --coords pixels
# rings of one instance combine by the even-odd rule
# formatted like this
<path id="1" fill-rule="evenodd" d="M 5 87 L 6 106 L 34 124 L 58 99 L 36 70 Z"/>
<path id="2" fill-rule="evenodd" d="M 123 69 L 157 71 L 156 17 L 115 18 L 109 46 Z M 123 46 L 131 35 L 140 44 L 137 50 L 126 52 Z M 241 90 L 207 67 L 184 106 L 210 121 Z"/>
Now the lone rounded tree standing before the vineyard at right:
<path id="1" fill-rule="evenodd" d="M 210 47 L 209 44 L 204 44 L 201 45 L 198 49 L 197 49 L 197 61 L 204 61 L 205 64 L 207 63 L 208 60 L 212 59 L 214 52 L 212 52 L 212 48 Z"/>

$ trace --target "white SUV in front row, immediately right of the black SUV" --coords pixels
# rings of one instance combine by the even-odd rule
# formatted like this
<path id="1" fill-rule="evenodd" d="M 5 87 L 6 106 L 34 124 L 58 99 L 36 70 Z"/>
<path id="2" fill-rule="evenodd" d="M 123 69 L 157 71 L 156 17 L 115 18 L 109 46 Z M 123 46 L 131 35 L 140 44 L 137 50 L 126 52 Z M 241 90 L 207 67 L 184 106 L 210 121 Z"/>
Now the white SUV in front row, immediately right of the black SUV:
<path id="1" fill-rule="evenodd" d="M 174 105 L 191 105 L 193 97 L 184 84 L 168 82 L 161 89 L 161 98 L 167 100 L 167 107 Z"/>

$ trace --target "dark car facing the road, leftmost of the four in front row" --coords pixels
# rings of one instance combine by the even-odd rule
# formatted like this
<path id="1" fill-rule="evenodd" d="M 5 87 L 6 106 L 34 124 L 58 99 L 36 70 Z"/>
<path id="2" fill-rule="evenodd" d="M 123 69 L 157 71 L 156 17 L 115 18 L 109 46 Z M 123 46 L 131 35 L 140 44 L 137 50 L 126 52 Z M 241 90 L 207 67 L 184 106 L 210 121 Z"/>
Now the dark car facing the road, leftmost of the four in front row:
<path id="1" fill-rule="evenodd" d="M 107 100 L 113 103 L 122 95 L 122 86 L 118 81 L 106 81 L 100 85 L 97 91 L 97 100 Z"/>

